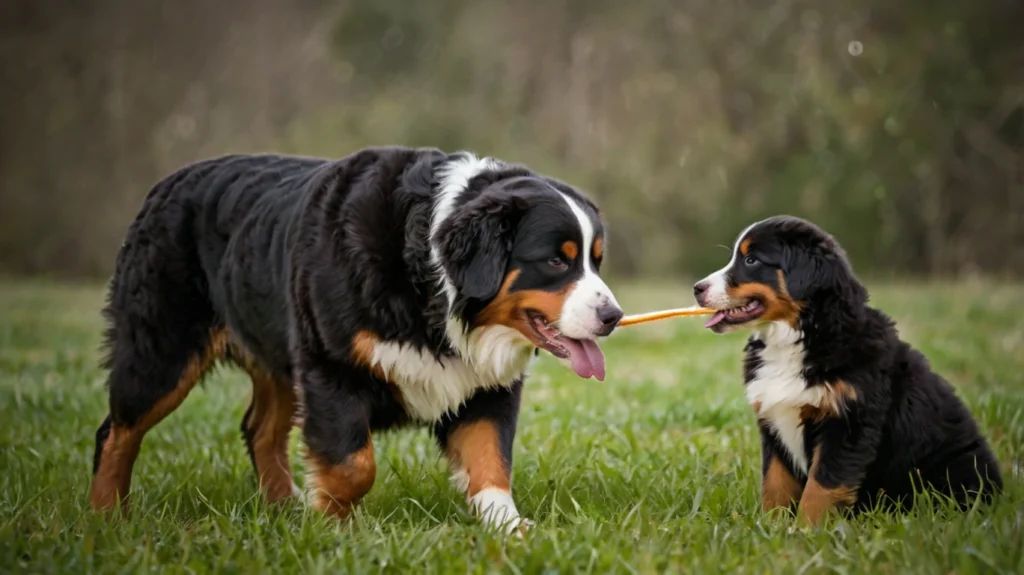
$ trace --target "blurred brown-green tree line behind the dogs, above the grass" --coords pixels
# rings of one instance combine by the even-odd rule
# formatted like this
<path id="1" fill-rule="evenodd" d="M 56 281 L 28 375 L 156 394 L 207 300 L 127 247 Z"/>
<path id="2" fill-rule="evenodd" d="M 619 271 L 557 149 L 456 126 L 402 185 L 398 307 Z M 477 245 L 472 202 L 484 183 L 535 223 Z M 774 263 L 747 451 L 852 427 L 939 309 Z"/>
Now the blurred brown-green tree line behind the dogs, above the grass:
<path id="1" fill-rule="evenodd" d="M 590 191 L 624 275 L 774 213 L 864 273 L 1024 275 L 1020 0 L 6 0 L 0 270 L 102 276 L 233 151 L 433 145 Z"/>

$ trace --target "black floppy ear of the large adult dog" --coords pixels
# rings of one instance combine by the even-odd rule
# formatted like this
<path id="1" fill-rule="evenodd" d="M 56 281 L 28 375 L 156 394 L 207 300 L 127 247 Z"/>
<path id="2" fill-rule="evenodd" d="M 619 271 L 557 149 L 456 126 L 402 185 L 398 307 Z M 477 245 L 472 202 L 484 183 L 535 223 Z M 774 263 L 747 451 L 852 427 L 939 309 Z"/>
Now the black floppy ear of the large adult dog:
<path id="1" fill-rule="evenodd" d="M 489 300 L 498 295 L 526 198 L 508 190 L 483 192 L 456 211 L 434 235 L 441 265 L 459 293 Z"/>

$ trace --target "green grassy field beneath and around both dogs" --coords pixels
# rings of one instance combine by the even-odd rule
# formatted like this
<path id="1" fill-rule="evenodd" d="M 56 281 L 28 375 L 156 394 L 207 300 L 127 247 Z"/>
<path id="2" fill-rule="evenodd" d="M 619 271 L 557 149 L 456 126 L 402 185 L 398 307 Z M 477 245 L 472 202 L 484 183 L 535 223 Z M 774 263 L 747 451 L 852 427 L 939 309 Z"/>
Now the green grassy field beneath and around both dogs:
<path id="1" fill-rule="evenodd" d="M 743 336 L 683 319 L 615 334 L 604 383 L 541 360 L 514 463 L 519 508 L 537 525 L 506 541 L 467 518 L 423 431 L 377 438 L 377 483 L 343 528 L 298 503 L 262 504 L 238 432 L 248 382 L 230 370 L 147 436 L 130 519 L 102 521 L 86 505 L 105 413 L 101 291 L 8 282 L 0 572 L 1024 572 L 1024 286 L 872 288 L 980 419 L 1009 481 L 996 507 L 817 531 L 762 517 Z M 617 290 L 629 311 L 686 303 L 687 291 Z"/>

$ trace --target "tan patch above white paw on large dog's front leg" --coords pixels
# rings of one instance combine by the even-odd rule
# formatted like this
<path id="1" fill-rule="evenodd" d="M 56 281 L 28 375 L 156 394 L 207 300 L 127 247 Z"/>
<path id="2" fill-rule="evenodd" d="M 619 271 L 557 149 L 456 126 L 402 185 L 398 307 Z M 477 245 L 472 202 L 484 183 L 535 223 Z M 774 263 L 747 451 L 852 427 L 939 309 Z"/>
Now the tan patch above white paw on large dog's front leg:
<path id="1" fill-rule="evenodd" d="M 469 476 L 468 497 L 488 487 L 509 490 L 509 470 L 494 423 L 479 421 L 459 426 L 449 436 L 447 456 L 454 468 Z"/>

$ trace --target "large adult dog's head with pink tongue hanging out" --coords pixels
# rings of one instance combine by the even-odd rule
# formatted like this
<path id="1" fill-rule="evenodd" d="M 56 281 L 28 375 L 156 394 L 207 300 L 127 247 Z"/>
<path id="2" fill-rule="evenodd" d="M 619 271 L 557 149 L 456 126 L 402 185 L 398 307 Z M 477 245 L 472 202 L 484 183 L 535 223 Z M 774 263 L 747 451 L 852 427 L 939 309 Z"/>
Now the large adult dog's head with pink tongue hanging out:
<path id="1" fill-rule="evenodd" d="M 609 335 L 623 311 L 600 277 L 597 209 L 548 178 L 492 177 L 434 235 L 454 309 L 470 330 L 513 328 L 580 377 L 603 380 L 595 339 Z"/>

